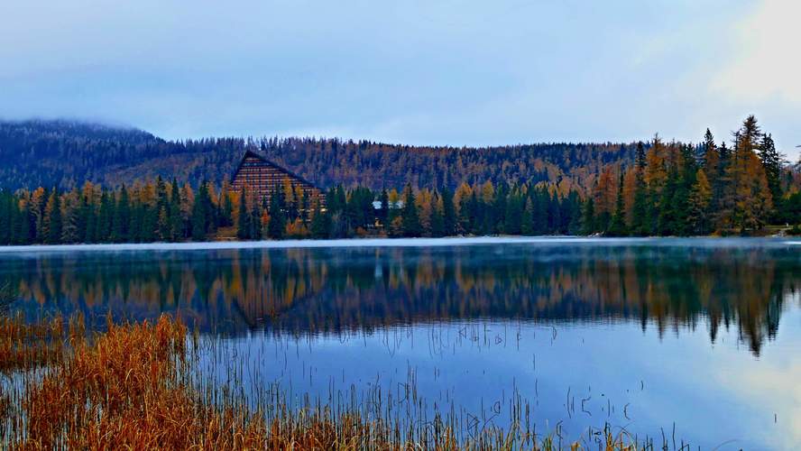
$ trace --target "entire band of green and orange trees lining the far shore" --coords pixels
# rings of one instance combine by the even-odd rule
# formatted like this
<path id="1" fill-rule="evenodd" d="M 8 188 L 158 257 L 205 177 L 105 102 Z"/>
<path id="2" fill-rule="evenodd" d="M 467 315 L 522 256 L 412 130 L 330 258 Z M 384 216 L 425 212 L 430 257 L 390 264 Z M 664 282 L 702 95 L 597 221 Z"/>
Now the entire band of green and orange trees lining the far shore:
<path id="1" fill-rule="evenodd" d="M 97 139 L 103 137 L 103 130 Z M 146 142 L 150 138 L 143 138 Z M 414 152 L 410 152 L 414 153 Z M 548 179 L 483 179 L 419 188 L 347 187 L 324 198 L 291 188 L 260 199 L 247 189 L 157 175 L 106 187 L 85 180 L 0 190 L 0 244 L 150 243 L 219 239 L 450 235 L 760 235 L 801 223 L 801 177 L 749 116 L 731 147 L 707 130 L 704 143 L 634 145 L 588 189 Z M 419 180 L 419 179 L 418 179 Z M 441 181 L 441 180 L 440 180 Z"/>

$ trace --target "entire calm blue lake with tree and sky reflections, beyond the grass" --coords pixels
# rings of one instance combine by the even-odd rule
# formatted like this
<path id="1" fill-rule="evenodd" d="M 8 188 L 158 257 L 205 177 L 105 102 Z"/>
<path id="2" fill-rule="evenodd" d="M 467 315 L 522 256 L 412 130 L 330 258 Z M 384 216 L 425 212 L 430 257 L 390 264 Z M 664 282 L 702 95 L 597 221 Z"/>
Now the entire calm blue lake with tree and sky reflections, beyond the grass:
<path id="1" fill-rule="evenodd" d="M 0 252 L 0 287 L 31 321 L 180 315 L 215 344 L 204 383 L 235 381 L 253 402 L 439 412 L 465 435 L 517 417 L 566 439 L 609 425 L 676 448 L 797 449 L 799 244 L 32 247 Z"/>

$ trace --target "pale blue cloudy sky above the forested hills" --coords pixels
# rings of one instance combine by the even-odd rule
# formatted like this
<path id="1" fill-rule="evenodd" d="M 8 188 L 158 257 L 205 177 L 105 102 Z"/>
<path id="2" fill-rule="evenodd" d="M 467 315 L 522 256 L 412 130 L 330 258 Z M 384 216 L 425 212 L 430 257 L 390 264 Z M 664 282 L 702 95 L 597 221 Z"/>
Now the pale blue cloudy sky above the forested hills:
<path id="1" fill-rule="evenodd" d="M 797 0 L 0 3 L 0 118 L 168 139 L 801 144 Z"/>

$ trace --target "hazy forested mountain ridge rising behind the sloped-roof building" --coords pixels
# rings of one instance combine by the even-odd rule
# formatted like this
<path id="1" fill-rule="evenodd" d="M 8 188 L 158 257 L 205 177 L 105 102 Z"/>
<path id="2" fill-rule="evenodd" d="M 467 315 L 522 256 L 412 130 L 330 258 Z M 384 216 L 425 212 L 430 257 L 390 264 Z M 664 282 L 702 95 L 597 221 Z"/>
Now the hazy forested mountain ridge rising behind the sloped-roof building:
<path id="1" fill-rule="evenodd" d="M 230 178 L 245 149 L 319 186 L 455 188 L 462 182 L 549 182 L 585 191 L 601 168 L 633 160 L 635 144 L 431 147 L 318 138 L 166 141 L 134 128 L 70 121 L 0 122 L 0 188 L 106 186 L 156 175 L 197 184 Z"/>

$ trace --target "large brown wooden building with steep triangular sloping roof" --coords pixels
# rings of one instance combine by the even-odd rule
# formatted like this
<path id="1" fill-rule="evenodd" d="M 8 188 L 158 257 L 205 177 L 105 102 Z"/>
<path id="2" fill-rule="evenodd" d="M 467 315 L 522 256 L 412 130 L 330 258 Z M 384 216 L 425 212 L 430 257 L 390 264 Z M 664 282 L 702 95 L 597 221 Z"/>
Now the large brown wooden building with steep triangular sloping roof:
<path id="1" fill-rule="evenodd" d="M 236 191 L 241 191 L 244 187 L 247 191 L 255 192 L 260 200 L 269 202 L 272 193 L 283 191 L 287 182 L 293 192 L 302 192 L 305 195 L 309 206 L 314 198 L 318 198 L 321 204 L 325 202 L 322 189 L 251 151 L 244 152 L 234 173 L 232 186 Z"/>

